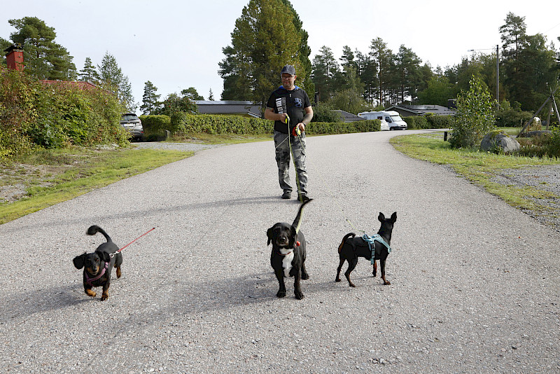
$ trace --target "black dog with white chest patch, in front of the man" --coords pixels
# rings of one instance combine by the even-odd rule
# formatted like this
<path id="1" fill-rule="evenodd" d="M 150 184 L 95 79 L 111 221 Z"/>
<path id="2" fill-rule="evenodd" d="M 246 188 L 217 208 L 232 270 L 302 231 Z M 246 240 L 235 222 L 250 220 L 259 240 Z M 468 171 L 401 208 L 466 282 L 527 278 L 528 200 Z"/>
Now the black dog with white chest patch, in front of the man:
<path id="1" fill-rule="evenodd" d="M 288 223 L 279 222 L 267 230 L 269 245 L 272 242 L 272 254 L 270 254 L 270 265 L 274 269 L 274 274 L 278 278 L 280 289 L 276 296 L 283 298 L 286 296 L 286 284 L 284 277 L 294 277 L 295 298 L 304 298 L 301 279 L 309 279 L 305 270 L 305 237 L 301 230 L 298 230 L 301 222 L 303 207 L 313 199 L 309 199 L 300 205 L 300 210 L 295 216 L 295 220 L 290 226 Z"/>

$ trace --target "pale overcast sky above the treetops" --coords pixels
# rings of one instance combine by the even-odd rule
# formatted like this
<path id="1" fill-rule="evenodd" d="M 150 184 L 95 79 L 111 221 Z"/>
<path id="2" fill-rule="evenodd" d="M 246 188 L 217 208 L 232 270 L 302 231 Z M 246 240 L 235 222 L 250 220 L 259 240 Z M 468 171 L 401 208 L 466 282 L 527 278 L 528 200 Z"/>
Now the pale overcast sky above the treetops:
<path id="1" fill-rule="evenodd" d="M 559 7 L 551 0 L 291 3 L 309 33 L 311 61 L 322 46 L 330 47 L 337 58 L 343 46 L 367 53 L 372 39 L 380 37 L 393 52 L 404 44 L 423 62 L 444 68 L 461 62 L 470 49 L 491 53 L 491 48 L 501 46 L 498 29 L 508 12 L 525 17 L 528 34 L 544 34 L 556 50 L 560 46 Z M 139 104 L 146 81 L 162 98 L 194 87 L 205 99 L 210 90 L 220 99 L 223 81 L 218 62 L 247 4 L 248 0 L 5 1 L 0 36 L 9 40 L 15 32 L 8 20 L 37 17 L 55 28 L 55 41 L 74 57 L 78 71 L 85 57 L 97 65 L 106 52 L 115 56 Z"/>

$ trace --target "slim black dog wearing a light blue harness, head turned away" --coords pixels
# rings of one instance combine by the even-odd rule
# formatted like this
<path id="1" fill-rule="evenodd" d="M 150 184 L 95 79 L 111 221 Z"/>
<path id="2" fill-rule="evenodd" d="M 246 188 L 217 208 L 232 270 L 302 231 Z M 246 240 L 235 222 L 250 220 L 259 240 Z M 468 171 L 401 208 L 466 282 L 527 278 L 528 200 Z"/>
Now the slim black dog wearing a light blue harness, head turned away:
<path id="1" fill-rule="evenodd" d="M 397 221 L 397 212 L 391 214 L 390 219 L 386 219 L 383 213 L 379 213 L 379 217 L 377 217 L 381 222 L 381 228 L 377 231 L 377 234 L 381 236 L 381 238 L 391 246 L 391 233 L 393 233 L 393 225 L 395 221 Z M 340 243 L 338 247 L 338 254 L 340 258 L 340 263 L 338 265 L 337 270 L 337 278 L 336 281 L 340 282 L 340 270 L 342 269 L 342 265 L 344 261 L 348 261 L 348 269 L 344 272 L 346 275 L 346 279 L 348 279 L 348 283 L 351 287 L 356 287 L 352 281 L 350 280 L 350 273 L 354 268 L 356 268 L 356 264 L 358 263 L 358 257 L 365 257 L 368 260 L 372 259 L 372 251 L 368 243 L 363 240 L 363 237 L 355 237 L 356 234 L 349 233 L 344 236 L 342 239 L 342 243 Z M 384 284 L 391 284 L 385 279 L 385 261 L 389 254 L 389 249 L 381 242 L 377 240 L 374 241 L 375 251 L 374 251 L 374 261 L 373 261 L 373 276 L 377 275 L 377 261 L 379 260 L 379 264 L 381 265 L 381 279 L 383 279 Z M 390 247 L 389 247 L 390 248 Z"/>

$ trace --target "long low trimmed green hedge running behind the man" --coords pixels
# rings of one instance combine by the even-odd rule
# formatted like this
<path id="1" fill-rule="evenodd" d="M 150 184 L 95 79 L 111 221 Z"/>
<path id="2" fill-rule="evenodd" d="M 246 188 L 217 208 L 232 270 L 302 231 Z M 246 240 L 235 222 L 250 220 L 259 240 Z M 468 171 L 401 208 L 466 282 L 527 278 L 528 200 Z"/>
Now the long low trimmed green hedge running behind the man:
<path id="1" fill-rule="evenodd" d="M 211 114 L 175 113 L 173 116 L 140 116 L 144 132 L 160 134 L 169 130 L 174 135 L 204 132 L 207 134 L 270 134 L 272 120 L 241 116 L 216 116 Z M 351 123 L 311 122 L 305 127 L 307 134 L 348 134 L 351 132 L 379 131 L 380 120 L 360 120 Z"/>

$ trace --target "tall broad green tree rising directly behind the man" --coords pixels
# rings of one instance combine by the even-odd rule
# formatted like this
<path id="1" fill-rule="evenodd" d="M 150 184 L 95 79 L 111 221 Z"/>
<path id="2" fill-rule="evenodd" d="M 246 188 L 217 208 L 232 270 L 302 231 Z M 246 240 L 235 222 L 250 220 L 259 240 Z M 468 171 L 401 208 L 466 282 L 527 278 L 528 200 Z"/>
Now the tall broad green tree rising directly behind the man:
<path id="1" fill-rule="evenodd" d="M 295 66 L 296 84 L 310 88 L 307 33 L 287 0 L 250 0 L 223 53 L 218 71 L 224 83 L 222 99 L 266 102 L 286 64 Z"/>

